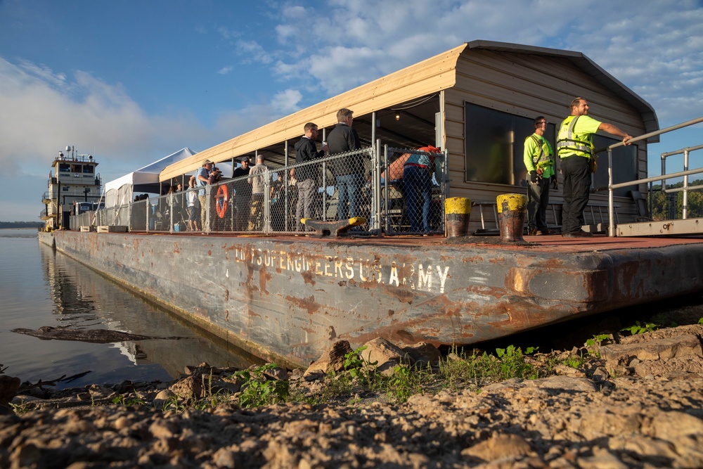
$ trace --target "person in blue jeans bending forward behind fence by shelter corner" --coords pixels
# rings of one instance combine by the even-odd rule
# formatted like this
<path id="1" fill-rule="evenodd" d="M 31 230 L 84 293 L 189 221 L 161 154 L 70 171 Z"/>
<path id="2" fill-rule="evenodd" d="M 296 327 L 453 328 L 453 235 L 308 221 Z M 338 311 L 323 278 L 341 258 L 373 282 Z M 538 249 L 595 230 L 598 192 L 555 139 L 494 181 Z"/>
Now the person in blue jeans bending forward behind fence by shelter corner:
<path id="1" fill-rule="evenodd" d="M 441 167 L 434 160 L 441 152 L 434 146 L 423 146 L 418 151 L 426 153 L 411 153 L 408 156 L 403 165 L 403 183 L 411 231 L 429 233 L 432 175 L 438 182 L 441 181 Z M 423 200 L 422 212 L 420 198 Z"/>

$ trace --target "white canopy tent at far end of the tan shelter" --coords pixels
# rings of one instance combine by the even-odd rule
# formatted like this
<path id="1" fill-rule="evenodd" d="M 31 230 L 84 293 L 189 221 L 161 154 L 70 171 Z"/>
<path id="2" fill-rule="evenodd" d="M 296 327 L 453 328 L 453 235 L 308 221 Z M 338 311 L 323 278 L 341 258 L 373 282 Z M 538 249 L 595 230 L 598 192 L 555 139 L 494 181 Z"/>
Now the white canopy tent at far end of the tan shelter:
<path id="1" fill-rule="evenodd" d="M 195 152 L 190 148 L 182 148 L 176 153 L 105 183 L 105 207 L 127 205 L 134 199 L 134 193 L 160 194 L 159 174 L 163 169 L 193 155 Z"/>

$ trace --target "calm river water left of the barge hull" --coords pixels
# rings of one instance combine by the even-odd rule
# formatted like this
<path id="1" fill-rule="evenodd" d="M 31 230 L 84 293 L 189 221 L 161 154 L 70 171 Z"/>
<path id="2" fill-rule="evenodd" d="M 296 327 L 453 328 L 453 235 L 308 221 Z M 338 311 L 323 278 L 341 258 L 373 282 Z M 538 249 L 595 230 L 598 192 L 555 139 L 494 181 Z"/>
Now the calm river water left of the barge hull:
<path id="1" fill-rule="evenodd" d="M 0 364 L 22 381 L 73 380 L 57 389 L 123 380 L 170 380 L 186 365 L 246 368 L 260 361 L 143 300 L 37 240 L 0 229 Z M 93 344 L 41 340 L 15 328 L 110 329 L 179 337 Z M 83 375 L 83 373 L 85 373 Z"/>

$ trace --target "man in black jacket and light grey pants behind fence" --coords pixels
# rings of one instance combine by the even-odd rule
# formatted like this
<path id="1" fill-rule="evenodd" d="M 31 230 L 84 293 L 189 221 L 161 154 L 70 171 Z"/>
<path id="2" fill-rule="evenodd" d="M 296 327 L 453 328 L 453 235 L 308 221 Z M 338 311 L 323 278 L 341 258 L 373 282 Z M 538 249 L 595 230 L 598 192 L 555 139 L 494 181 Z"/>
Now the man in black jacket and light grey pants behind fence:
<path id="1" fill-rule="evenodd" d="M 310 162 L 325 155 L 327 146 L 323 145 L 318 151 L 315 145 L 317 139 L 317 126 L 308 122 L 303 127 L 305 134 L 295 144 L 295 162 Z M 295 207 L 295 225 L 297 231 L 303 231 L 300 223 L 302 218 L 311 218 L 311 208 L 317 190 L 317 165 L 305 165 L 298 167 L 295 172 L 297 176 L 298 203 Z"/>

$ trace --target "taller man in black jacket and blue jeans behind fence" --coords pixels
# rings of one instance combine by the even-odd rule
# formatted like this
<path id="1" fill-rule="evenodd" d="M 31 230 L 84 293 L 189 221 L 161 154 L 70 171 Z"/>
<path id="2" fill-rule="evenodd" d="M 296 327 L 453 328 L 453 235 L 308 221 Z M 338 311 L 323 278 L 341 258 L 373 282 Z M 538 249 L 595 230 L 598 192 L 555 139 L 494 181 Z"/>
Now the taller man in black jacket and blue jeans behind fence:
<path id="1" fill-rule="evenodd" d="M 361 142 L 356 130 L 352 129 L 352 111 L 346 108 L 337 111 L 337 125 L 330 131 L 327 144 L 331 155 L 359 150 Z M 361 188 L 363 187 L 363 159 L 361 155 L 352 158 L 333 160 L 330 165 L 337 178 L 337 219 L 359 217 Z M 347 204 L 349 206 L 347 207 Z"/>

